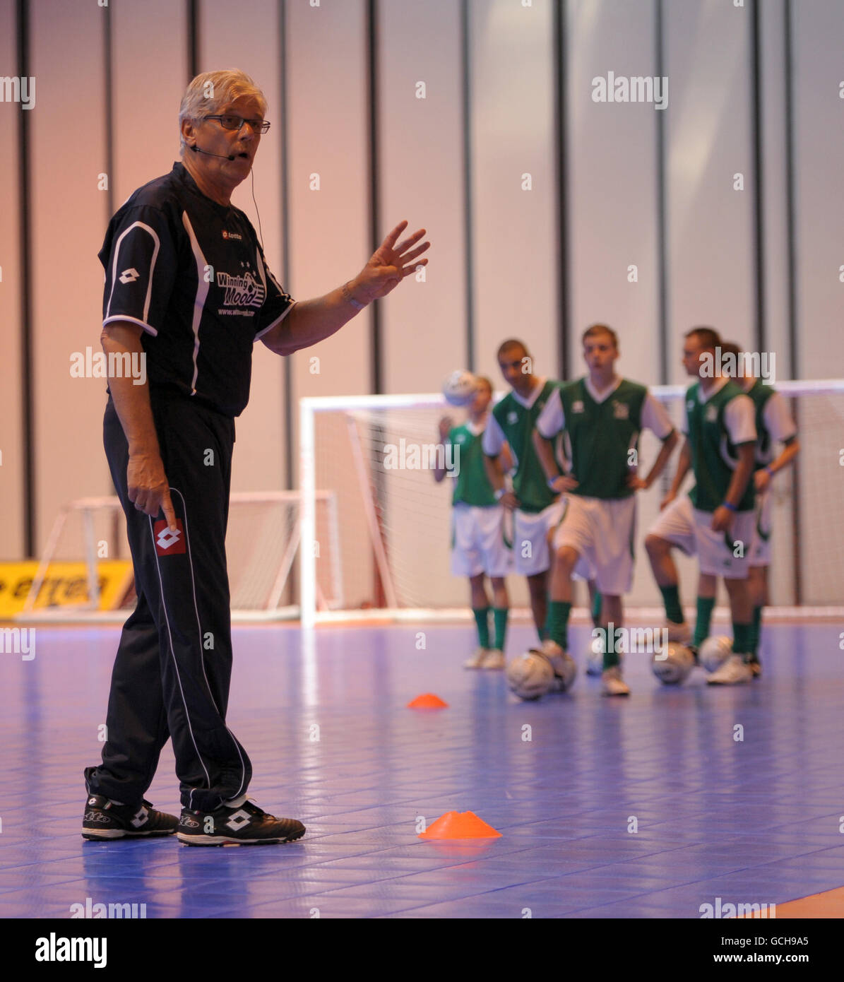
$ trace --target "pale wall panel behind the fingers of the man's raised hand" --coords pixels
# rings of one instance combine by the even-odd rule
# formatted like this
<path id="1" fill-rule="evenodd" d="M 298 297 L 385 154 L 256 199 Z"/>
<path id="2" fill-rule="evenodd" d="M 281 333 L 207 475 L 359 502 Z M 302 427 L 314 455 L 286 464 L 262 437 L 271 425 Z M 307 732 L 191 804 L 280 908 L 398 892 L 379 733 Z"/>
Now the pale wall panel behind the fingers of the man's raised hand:
<path id="1" fill-rule="evenodd" d="M 410 276 L 384 303 L 384 389 L 433 392 L 466 353 L 460 8 L 383 0 L 380 10 L 384 231 L 406 218 L 432 242 L 426 282 Z"/>

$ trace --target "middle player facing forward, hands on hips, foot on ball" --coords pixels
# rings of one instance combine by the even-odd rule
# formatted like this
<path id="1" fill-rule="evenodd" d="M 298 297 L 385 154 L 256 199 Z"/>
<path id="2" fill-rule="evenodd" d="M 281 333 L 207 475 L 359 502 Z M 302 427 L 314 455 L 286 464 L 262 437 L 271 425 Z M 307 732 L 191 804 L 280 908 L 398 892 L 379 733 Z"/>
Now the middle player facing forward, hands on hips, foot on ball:
<path id="1" fill-rule="evenodd" d="M 677 443 L 668 414 L 644 385 L 615 374 L 618 338 L 606 324 L 583 334 L 589 374 L 557 389 L 537 419 L 534 444 L 549 487 L 567 492 L 554 535 L 549 638 L 543 651 L 552 664 L 568 649 L 571 574 L 585 560 L 594 569 L 602 600 L 602 624 L 620 627 L 621 595 L 633 582 L 636 491 L 659 477 Z M 644 427 L 662 441 L 647 477 L 637 474 L 639 434 Z M 551 441 L 564 434 L 571 472 L 560 475 Z M 605 695 L 629 695 L 618 654 L 605 645 Z M 569 656 L 570 657 L 570 656 Z"/>

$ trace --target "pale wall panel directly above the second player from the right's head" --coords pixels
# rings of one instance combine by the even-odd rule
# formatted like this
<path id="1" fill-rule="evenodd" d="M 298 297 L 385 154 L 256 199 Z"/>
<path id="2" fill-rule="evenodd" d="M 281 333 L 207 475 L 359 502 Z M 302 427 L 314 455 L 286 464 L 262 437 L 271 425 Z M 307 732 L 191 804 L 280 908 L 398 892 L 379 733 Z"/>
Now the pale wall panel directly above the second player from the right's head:
<path id="1" fill-rule="evenodd" d="M 749 6 L 663 5 L 669 382 L 686 381 L 682 336 L 710 325 L 753 345 L 755 253 Z M 733 175 L 744 175 L 744 191 Z"/>

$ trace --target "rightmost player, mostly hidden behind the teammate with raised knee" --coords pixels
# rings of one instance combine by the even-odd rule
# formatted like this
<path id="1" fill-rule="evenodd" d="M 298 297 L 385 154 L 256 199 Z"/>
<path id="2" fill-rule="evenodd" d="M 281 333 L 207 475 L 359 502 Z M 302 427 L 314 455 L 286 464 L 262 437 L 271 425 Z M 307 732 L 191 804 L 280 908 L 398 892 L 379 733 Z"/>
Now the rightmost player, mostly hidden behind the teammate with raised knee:
<path id="1" fill-rule="evenodd" d="M 762 627 L 762 610 L 767 604 L 767 567 L 770 564 L 770 480 L 771 477 L 787 467 L 797 457 L 800 444 L 797 440 L 797 426 L 788 404 L 771 386 L 756 378 L 750 370 L 748 358 L 738 345 L 730 341 L 721 343 L 721 370 L 731 375 L 754 402 L 756 409 L 756 454 L 754 462 L 753 486 L 756 492 L 753 541 L 750 547 L 750 573 L 748 576 L 753 605 L 753 622 L 750 638 L 750 667 L 754 678 L 762 675 L 759 660 L 759 643 Z M 774 459 L 774 447 L 783 444 L 783 450 Z M 701 574 L 699 605 L 704 600 L 706 606 L 699 610 L 695 627 L 694 645 L 699 646 L 710 632 L 710 619 L 714 605 L 717 579 Z"/>

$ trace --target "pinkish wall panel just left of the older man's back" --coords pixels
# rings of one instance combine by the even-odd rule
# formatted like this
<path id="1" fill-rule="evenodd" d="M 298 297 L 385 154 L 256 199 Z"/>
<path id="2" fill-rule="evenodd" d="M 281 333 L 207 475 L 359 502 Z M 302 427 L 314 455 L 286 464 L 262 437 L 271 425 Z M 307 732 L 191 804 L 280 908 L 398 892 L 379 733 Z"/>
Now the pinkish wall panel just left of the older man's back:
<path id="1" fill-rule="evenodd" d="M 30 4 L 32 312 L 36 550 L 59 509 L 110 488 L 102 447 L 105 379 L 72 378 L 71 355 L 100 351 L 108 221 L 103 8 Z"/>

